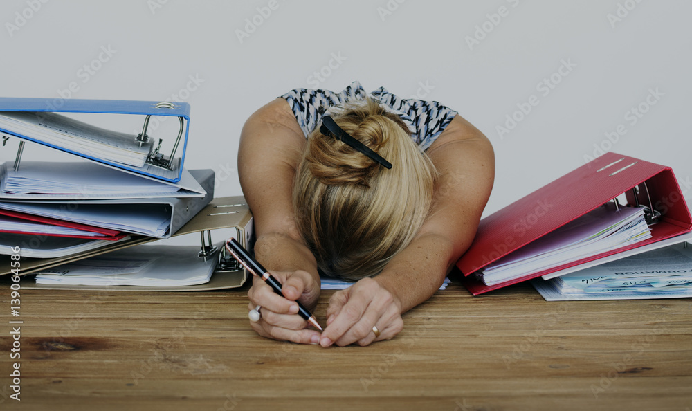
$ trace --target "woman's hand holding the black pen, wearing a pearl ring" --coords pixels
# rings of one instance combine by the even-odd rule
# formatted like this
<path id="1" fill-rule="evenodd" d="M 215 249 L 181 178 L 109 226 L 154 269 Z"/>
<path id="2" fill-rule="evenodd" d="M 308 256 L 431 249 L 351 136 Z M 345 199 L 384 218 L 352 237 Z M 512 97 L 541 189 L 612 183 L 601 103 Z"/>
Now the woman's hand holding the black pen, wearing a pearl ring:
<path id="1" fill-rule="evenodd" d="M 320 332 L 307 328 L 308 322 L 298 315 L 298 300 L 310 311 L 320 296 L 320 284 L 307 271 L 271 271 L 282 285 L 278 295 L 262 278 L 253 275 L 253 286 L 248 291 L 253 310 L 262 307 L 261 318 L 250 322 L 257 334 L 275 340 L 287 340 L 299 344 L 319 344 Z"/>

